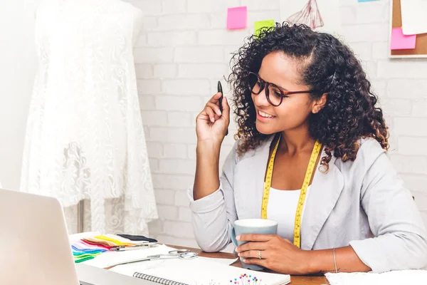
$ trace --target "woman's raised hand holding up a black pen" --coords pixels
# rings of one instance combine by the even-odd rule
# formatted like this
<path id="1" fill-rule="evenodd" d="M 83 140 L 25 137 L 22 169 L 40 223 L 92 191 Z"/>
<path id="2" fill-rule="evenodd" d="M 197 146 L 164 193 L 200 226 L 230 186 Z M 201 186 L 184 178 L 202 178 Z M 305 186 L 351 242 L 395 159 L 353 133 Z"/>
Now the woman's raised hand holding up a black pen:
<path id="1" fill-rule="evenodd" d="M 221 93 L 218 92 L 206 103 L 205 108 L 196 118 L 198 142 L 211 140 L 211 142 L 221 145 L 226 136 L 226 131 L 230 124 L 230 106 L 227 98 L 223 97 L 223 111 L 221 113 L 219 110 L 219 98 L 221 98 Z"/>

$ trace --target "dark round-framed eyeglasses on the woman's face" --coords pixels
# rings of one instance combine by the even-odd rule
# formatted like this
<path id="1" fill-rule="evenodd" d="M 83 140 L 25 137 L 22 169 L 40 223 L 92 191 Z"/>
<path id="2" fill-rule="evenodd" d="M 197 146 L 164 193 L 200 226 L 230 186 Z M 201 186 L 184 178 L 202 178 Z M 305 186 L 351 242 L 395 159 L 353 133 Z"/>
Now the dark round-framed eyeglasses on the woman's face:
<path id="1" fill-rule="evenodd" d="M 268 103 L 277 107 L 283 101 L 283 98 L 288 97 L 290 94 L 298 93 L 313 93 L 315 90 L 305 90 L 305 91 L 286 91 L 282 87 L 264 81 L 258 74 L 250 72 L 248 76 L 248 87 L 249 90 L 255 95 L 260 94 L 265 89 L 265 97 L 268 100 Z M 270 94 L 273 94 L 270 97 Z"/>

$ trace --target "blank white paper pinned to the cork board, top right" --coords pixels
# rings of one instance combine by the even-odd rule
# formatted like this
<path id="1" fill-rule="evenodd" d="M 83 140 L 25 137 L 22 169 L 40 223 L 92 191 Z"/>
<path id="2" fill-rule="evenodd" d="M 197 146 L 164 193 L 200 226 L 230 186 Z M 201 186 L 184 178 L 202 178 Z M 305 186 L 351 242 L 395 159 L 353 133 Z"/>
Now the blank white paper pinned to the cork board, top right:
<path id="1" fill-rule="evenodd" d="M 401 0 L 404 35 L 427 33 L 427 0 Z"/>

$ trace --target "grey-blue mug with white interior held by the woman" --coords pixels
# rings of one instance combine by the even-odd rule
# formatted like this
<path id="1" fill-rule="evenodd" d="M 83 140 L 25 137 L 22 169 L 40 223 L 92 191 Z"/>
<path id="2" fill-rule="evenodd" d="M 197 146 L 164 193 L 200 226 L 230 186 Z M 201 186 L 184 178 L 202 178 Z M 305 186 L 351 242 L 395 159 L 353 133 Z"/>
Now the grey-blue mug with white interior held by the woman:
<path id="1" fill-rule="evenodd" d="M 236 239 L 236 236 L 241 234 L 278 234 L 278 222 L 271 219 L 238 219 L 233 223 L 233 229 L 231 229 L 231 240 L 235 247 L 246 244 Z M 246 264 L 243 262 L 243 258 L 240 258 L 242 267 L 251 270 L 263 270 L 263 266 L 256 264 Z"/>

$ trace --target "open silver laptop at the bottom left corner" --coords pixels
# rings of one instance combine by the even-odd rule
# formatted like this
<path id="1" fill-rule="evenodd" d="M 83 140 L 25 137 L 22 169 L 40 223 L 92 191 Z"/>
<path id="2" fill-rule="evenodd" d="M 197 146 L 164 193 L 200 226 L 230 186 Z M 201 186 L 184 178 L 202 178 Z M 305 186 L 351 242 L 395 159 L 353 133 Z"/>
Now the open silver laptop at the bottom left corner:
<path id="1" fill-rule="evenodd" d="M 0 189 L 0 284 L 154 285 L 74 264 L 58 199 Z"/>

